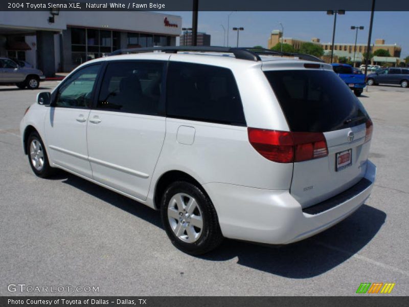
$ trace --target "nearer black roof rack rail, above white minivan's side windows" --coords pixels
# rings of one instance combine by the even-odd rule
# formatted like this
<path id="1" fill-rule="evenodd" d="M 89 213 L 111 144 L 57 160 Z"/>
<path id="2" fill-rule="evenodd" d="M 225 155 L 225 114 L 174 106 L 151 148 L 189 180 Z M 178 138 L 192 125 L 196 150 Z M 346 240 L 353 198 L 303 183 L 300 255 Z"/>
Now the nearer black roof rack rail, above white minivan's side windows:
<path id="1" fill-rule="evenodd" d="M 183 51 L 195 52 L 225 52 L 233 53 L 236 59 L 261 61 L 260 57 L 249 50 L 242 48 L 218 47 L 218 46 L 167 46 L 167 47 L 147 47 L 147 48 L 129 48 L 116 50 L 109 55 L 119 55 L 128 53 L 143 53 L 152 51 L 162 51 L 165 53 L 177 53 Z"/>

